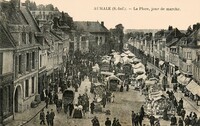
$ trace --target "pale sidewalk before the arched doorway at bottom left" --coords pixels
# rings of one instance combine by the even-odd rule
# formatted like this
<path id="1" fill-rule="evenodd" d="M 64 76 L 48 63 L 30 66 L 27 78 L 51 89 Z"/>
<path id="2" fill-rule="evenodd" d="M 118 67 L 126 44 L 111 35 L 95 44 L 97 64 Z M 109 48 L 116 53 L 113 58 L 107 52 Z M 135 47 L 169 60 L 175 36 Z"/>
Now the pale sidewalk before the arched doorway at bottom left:
<path id="1" fill-rule="evenodd" d="M 45 102 L 42 101 L 36 108 L 30 108 L 22 113 L 15 113 L 14 120 L 8 123 L 8 126 L 23 126 L 31 121 L 45 107 Z"/>

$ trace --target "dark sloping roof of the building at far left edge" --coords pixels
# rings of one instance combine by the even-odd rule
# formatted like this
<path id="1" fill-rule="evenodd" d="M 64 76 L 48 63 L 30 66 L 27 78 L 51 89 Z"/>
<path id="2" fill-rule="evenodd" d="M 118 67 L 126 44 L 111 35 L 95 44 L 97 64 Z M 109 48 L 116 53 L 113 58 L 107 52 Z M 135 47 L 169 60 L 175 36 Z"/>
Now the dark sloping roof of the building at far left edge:
<path id="1" fill-rule="evenodd" d="M 0 22 L 0 49 L 2 48 L 13 48 L 13 42 L 9 35 L 7 34 L 6 29 Z"/>

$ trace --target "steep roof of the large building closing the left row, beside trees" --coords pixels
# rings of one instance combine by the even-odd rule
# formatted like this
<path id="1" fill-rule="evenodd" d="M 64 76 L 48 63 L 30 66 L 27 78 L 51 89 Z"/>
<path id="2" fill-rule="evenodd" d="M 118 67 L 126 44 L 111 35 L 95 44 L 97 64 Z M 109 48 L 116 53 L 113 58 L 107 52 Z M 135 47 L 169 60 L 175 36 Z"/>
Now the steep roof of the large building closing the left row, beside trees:
<path id="1" fill-rule="evenodd" d="M 109 32 L 108 29 L 101 25 L 99 22 L 93 21 L 75 21 L 75 27 L 77 30 L 86 31 L 86 32 Z"/>

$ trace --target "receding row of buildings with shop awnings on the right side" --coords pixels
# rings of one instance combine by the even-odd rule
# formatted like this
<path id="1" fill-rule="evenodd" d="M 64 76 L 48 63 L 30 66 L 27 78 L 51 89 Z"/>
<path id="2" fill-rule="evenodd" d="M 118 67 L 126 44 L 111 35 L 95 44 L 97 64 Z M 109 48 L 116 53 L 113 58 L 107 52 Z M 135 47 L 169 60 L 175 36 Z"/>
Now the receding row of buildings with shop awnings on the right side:
<path id="1" fill-rule="evenodd" d="M 168 30 L 140 34 L 129 39 L 130 48 L 144 64 L 151 64 L 172 77 L 190 93 L 200 96 L 200 24 L 186 31 L 169 26 Z M 190 83 L 190 84 L 189 84 Z M 196 100 L 199 100 L 196 98 Z"/>

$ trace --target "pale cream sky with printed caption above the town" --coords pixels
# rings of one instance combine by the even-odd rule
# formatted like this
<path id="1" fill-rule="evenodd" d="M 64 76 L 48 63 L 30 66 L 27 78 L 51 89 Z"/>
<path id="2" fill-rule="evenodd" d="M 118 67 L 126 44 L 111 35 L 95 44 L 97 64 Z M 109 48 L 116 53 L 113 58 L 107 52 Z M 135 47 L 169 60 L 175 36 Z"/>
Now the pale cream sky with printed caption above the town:
<path id="1" fill-rule="evenodd" d="M 167 29 L 171 25 L 185 30 L 189 25 L 200 22 L 200 0 L 30 1 L 35 1 L 37 5 L 53 4 L 60 11 L 67 12 L 74 21 L 104 21 L 108 29 L 121 23 L 125 29 Z M 102 7 L 108 10 L 100 10 Z M 156 9 L 152 11 L 152 8 Z M 176 8 L 176 10 L 171 11 L 167 8 Z"/>

